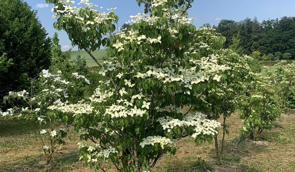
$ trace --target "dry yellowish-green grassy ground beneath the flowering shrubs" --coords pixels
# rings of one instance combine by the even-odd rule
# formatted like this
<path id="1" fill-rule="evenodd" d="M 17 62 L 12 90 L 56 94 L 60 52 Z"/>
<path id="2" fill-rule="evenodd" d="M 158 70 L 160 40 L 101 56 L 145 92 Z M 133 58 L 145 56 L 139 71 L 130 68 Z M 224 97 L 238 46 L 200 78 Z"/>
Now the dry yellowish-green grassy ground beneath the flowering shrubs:
<path id="1" fill-rule="evenodd" d="M 226 137 L 223 165 L 216 165 L 214 146 L 204 143 L 196 146 L 192 139 L 180 140 L 175 156 L 162 157 L 156 172 L 205 172 L 198 165 L 198 157 L 213 172 L 295 172 L 295 111 L 282 115 L 276 128 L 265 131 L 260 141 L 245 140 L 237 143 L 242 127 L 237 115 L 229 118 L 230 134 Z M 36 130 L 29 124 L 16 120 L 0 120 L 0 172 L 93 172 L 83 168 L 79 161 L 78 134 L 57 150 L 55 163 L 45 165 L 40 143 L 35 139 Z"/>

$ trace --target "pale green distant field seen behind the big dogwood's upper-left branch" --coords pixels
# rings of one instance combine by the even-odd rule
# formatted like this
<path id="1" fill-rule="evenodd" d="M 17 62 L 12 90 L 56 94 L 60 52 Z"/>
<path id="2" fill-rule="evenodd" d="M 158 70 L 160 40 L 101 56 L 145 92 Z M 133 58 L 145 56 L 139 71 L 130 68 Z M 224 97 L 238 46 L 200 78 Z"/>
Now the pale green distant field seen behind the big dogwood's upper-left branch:
<path id="1" fill-rule="evenodd" d="M 71 51 L 72 59 L 75 59 L 78 55 L 86 59 L 87 65 L 89 67 L 97 66 L 94 60 L 88 55 L 88 53 L 86 53 L 86 51 Z M 98 62 L 102 62 L 102 58 L 107 57 L 107 51 L 105 49 L 97 50 L 93 53 L 93 56 L 96 57 Z"/>

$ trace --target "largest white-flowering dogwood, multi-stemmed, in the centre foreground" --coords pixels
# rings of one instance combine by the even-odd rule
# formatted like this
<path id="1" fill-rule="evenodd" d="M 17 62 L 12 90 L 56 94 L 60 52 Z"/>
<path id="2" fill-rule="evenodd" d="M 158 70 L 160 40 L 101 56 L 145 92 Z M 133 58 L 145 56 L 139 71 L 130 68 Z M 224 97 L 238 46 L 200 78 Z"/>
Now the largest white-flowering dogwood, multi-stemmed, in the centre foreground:
<path id="1" fill-rule="evenodd" d="M 92 41 L 101 41 L 92 32 L 105 34 L 101 27 L 108 30 L 108 22 L 117 21 L 113 9 L 103 17 L 107 21 L 96 20 L 101 13 L 88 0 L 81 0 L 81 7 L 69 0 L 48 1 L 56 5 L 55 26 L 90 55 L 98 48 Z M 107 41 L 114 57 L 97 62 L 104 78 L 89 101 L 49 107 L 72 116 L 81 139 L 92 142 L 79 144 L 85 166 L 107 171 L 109 162 L 118 171 L 149 171 L 162 155 L 175 154 L 180 138 L 212 140 L 220 123 L 196 110 L 211 82 L 230 68 L 218 64 L 224 55 L 215 55 L 224 38 L 212 29 L 196 29 L 186 10 L 169 0 L 153 0 L 150 15 L 131 16 L 130 27 Z M 74 20 L 79 25 L 72 26 Z M 86 27 L 88 35 L 80 37 Z"/>

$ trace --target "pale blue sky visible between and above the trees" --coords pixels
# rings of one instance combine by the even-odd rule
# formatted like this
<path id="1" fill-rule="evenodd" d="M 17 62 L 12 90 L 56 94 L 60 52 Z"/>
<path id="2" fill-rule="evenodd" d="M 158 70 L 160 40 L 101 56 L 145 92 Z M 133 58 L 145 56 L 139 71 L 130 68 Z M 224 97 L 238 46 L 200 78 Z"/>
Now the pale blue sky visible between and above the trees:
<path id="1" fill-rule="evenodd" d="M 46 5 L 45 0 L 24 1 L 28 2 L 33 10 L 38 11 L 39 20 L 52 37 L 57 31 L 53 28 L 56 19 L 52 18 L 52 5 Z M 118 27 L 128 21 L 130 15 L 143 11 L 135 0 L 90 0 L 90 2 L 103 6 L 104 9 L 117 7 L 115 13 L 119 16 Z M 205 23 L 211 26 L 218 25 L 222 19 L 240 21 L 246 17 L 256 16 L 259 21 L 263 21 L 283 16 L 295 16 L 295 0 L 195 0 L 193 7 L 189 10 L 189 15 L 197 18 L 194 21 L 197 27 Z M 71 48 L 71 42 L 64 31 L 59 31 L 59 39 L 63 51 Z"/>

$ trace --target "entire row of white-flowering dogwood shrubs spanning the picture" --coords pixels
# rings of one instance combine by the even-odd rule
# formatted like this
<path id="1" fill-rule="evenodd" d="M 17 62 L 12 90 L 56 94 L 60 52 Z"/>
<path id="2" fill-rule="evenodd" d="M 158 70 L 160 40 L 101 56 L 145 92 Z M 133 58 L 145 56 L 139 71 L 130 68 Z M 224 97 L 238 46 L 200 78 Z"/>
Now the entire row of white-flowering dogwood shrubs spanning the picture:
<path id="1" fill-rule="evenodd" d="M 70 0 L 47 1 L 55 5 L 54 26 L 65 30 L 100 69 L 91 76 L 85 63 L 73 65 L 56 37 L 52 67 L 42 71 L 29 92 L 5 98 L 12 105 L 16 99 L 27 103 L 1 114 L 39 124 L 48 163 L 58 144 L 64 144 L 67 132 L 60 124 L 79 131 L 80 158 L 95 170 L 108 171 L 106 164 L 112 164 L 121 172 L 150 171 L 188 136 L 196 144 L 214 140 L 220 161 L 230 115 L 240 111 L 243 131 L 256 140 L 273 127 L 281 108 L 289 107 L 294 64 L 280 64 L 267 77 L 256 73 L 251 57 L 221 48 L 225 38 L 214 29 L 190 24 L 193 19 L 186 15 L 193 0 L 148 1 L 149 14 L 132 16 L 130 27 L 111 39 L 106 34 L 115 31 L 118 21 L 113 9 L 99 12 L 88 0 L 81 0 L 80 7 Z M 101 45 L 112 55 L 102 64 L 92 55 Z M 89 85 L 98 86 L 90 97 L 84 95 Z"/>

